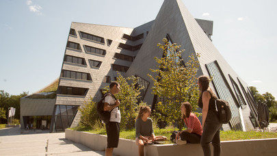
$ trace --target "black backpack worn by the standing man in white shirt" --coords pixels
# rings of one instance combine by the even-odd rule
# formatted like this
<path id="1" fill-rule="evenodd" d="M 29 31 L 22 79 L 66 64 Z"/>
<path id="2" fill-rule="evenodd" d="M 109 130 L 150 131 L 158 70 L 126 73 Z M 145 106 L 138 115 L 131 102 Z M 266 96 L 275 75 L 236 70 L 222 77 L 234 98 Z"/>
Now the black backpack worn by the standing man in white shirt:
<path id="1" fill-rule="evenodd" d="M 97 103 L 97 114 L 99 118 L 103 120 L 103 122 L 105 122 L 106 124 L 109 123 L 109 119 L 111 118 L 111 111 L 113 110 L 111 109 L 111 111 L 104 111 L 104 100 L 107 95 L 111 95 L 112 97 L 114 97 L 114 99 L 116 99 L 116 97 L 113 94 L 107 92 L 104 94 L 103 98 Z"/>

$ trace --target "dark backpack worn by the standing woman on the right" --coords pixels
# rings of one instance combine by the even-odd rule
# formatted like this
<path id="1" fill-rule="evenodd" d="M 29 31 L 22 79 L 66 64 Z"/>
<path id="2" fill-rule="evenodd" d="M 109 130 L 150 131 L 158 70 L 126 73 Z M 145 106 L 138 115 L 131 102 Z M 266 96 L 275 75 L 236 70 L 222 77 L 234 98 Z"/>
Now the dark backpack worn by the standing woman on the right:
<path id="1" fill-rule="evenodd" d="M 222 99 L 215 99 L 215 106 L 218 112 L 220 123 L 222 124 L 228 123 L 230 121 L 230 118 L 232 118 L 229 103 Z"/>

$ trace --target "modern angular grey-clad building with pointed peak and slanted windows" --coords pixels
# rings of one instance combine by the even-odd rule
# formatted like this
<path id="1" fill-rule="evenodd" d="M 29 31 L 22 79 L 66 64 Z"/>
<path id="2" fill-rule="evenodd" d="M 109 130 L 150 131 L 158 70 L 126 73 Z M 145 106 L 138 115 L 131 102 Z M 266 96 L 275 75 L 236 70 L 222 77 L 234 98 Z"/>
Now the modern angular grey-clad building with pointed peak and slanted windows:
<path id="1" fill-rule="evenodd" d="M 222 128 L 254 129 L 257 105 L 252 93 L 214 47 L 212 35 L 213 21 L 195 19 L 181 0 L 164 0 L 154 21 L 135 28 L 72 23 L 55 104 L 49 108 L 53 109 L 50 131 L 77 126 L 80 118 L 77 108 L 90 97 L 100 100 L 101 89 L 116 80 L 117 72 L 124 77 L 138 77 L 145 87 L 141 100 L 155 104 L 157 98 L 150 89 L 153 81 L 147 75 L 149 68 L 157 68 L 154 57 L 163 57 L 157 47 L 163 38 L 185 49 L 184 62 L 192 53 L 200 53 L 198 75 L 213 77 L 211 88 L 220 99 L 228 101 L 232 109 L 232 119 Z M 26 116 L 28 114 L 22 124 L 28 122 Z"/>

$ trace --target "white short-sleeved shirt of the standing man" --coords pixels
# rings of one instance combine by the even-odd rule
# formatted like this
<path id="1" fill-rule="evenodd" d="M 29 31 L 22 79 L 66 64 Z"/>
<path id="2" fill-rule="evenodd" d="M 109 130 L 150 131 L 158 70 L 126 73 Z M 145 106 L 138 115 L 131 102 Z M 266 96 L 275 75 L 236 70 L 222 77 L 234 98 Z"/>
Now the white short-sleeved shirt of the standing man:
<path id="1" fill-rule="evenodd" d="M 109 103 L 109 105 L 115 105 L 116 104 L 116 99 L 112 97 L 111 95 L 107 95 L 105 97 L 105 103 Z M 111 111 L 111 110 L 109 110 Z M 115 107 L 111 111 L 111 118 L 109 119 L 110 122 L 120 122 L 120 109 L 119 107 Z"/>

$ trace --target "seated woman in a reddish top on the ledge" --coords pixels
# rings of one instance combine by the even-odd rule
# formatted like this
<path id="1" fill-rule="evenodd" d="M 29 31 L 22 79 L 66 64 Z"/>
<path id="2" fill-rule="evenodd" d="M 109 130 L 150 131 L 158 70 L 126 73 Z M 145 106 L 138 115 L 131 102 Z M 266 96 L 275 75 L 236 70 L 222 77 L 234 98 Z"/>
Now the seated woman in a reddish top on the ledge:
<path id="1" fill-rule="evenodd" d="M 176 143 L 179 145 L 187 144 L 187 142 L 192 144 L 200 143 L 202 126 L 196 115 L 192 113 L 192 105 L 190 103 L 182 103 L 181 112 L 187 129 L 177 133 Z"/>

